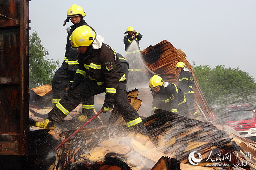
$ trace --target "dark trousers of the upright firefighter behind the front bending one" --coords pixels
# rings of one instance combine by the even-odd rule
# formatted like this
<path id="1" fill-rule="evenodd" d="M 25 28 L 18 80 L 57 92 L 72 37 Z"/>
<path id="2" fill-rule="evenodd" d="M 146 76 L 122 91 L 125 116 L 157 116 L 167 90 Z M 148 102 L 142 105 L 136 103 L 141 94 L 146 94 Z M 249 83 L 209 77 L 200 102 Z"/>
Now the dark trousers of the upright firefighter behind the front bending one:
<path id="1" fill-rule="evenodd" d="M 66 88 L 69 82 L 73 80 L 75 74 L 76 71 L 71 71 L 62 67 L 55 71 L 55 75 L 52 79 L 52 103 L 56 104 L 63 98 L 67 92 Z M 82 101 L 82 114 L 86 116 L 93 114 L 93 104 L 93 97 L 84 99 Z"/>

